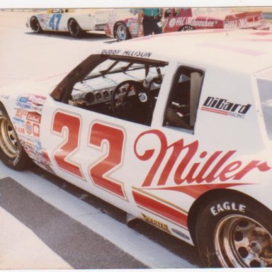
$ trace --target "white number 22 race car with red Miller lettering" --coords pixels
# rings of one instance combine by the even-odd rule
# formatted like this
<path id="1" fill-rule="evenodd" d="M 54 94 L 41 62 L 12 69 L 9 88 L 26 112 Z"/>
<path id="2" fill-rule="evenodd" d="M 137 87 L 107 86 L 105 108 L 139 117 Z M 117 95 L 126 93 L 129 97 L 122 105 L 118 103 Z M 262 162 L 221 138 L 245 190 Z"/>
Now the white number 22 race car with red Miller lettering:
<path id="1" fill-rule="evenodd" d="M 271 44 L 259 30 L 154 35 L 108 45 L 51 91 L 6 86 L 1 159 L 196 245 L 205 266 L 271 267 Z"/>

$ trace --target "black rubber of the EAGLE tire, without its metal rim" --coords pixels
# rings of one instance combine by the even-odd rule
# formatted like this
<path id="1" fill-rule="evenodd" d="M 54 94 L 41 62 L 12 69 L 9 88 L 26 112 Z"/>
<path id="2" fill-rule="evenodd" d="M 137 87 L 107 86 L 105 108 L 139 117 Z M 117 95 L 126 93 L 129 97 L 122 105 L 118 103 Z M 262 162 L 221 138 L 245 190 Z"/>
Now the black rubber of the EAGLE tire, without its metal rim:
<path id="1" fill-rule="evenodd" d="M 229 208 L 229 210 L 224 207 Z M 269 221 L 272 213 L 268 208 L 239 193 L 227 193 L 227 196 L 216 198 L 200 210 L 196 223 L 196 244 L 200 258 L 206 267 L 221 267 L 215 252 L 215 228 L 220 220 L 229 215 L 249 217 L 272 234 L 272 227 Z"/>

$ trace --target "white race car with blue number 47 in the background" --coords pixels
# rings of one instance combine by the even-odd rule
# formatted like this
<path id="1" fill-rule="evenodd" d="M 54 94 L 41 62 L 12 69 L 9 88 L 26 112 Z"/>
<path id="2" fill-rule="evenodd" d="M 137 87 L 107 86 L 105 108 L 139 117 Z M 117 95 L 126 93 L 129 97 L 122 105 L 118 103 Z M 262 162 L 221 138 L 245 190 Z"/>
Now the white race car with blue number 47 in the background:
<path id="1" fill-rule="evenodd" d="M 124 9 L 116 12 L 114 8 L 54 8 L 31 16 L 26 26 L 34 33 L 60 31 L 69 32 L 73 37 L 79 38 L 86 31 L 104 31 L 106 23 L 129 14 L 128 11 L 125 13 Z"/>

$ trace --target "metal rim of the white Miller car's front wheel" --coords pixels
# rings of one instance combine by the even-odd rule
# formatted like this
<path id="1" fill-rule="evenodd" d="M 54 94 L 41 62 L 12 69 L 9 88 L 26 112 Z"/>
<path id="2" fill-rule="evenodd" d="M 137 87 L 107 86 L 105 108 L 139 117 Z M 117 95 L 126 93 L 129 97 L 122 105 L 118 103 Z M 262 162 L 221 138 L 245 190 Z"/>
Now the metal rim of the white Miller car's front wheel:
<path id="1" fill-rule="evenodd" d="M 11 122 L 0 117 L 0 147 L 7 157 L 14 159 L 18 154 L 18 138 Z"/>

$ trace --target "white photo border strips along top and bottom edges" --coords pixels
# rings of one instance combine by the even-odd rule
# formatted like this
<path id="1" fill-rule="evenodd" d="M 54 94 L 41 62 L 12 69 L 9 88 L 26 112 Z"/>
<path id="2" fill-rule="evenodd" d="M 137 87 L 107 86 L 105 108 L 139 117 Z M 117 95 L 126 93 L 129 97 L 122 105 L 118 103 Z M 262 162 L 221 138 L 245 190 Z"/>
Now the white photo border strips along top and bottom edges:
<path id="1" fill-rule="evenodd" d="M 23 8 L 139 8 L 139 7 L 272 7 L 271 0 L 1 0 L 0 9 L 23 9 Z M 9 272 L 11 270 L 1 270 L 1 272 Z M 13 270 L 17 271 L 17 270 Z M 38 270 L 33 270 L 33 272 Z M 58 270 L 50 270 L 52 272 Z M 74 271 L 74 270 L 68 270 Z M 77 271 L 93 271 L 90 270 L 77 270 Z M 108 271 L 105 269 L 98 269 L 94 271 Z M 130 269 L 123 269 L 123 272 L 131 271 Z M 137 269 L 138 272 L 146 271 L 142 269 Z M 152 269 L 152 272 L 159 272 L 162 270 Z M 205 272 L 259 272 L 260 268 L 169 268 L 165 269 L 167 272 L 196 272 L 196 271 L 205 271 Z M 271 272 L 272 268 L 261 268 L 261 272 Z M 67 272 L 67 270 L 62 269 L 62 272 Z"/>

